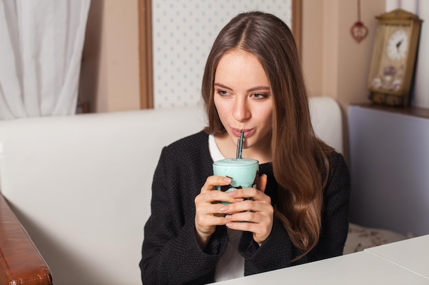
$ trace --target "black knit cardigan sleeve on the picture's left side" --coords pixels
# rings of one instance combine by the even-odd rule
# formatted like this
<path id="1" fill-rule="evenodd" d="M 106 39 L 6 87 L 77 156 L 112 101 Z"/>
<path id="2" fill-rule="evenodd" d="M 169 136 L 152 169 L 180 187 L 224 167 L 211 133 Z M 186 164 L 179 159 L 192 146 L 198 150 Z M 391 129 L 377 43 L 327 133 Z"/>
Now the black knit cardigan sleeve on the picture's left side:
<path id="1" fill-rule="evenodd" d="M 183 182 L 186 167 L 177 161 L 182 161 L 180 153 L 164 148 L 154 174 L 151 216 L 145 225 L 140 261 L 143 284 L 212 282 L 216 262 L 227 243 L 227 234 L 217 231 L 206 252 L 201 250 L 195 237 L 194 197 L 183 194 L 199 189 L 191 191 L 197 185 Z"/>

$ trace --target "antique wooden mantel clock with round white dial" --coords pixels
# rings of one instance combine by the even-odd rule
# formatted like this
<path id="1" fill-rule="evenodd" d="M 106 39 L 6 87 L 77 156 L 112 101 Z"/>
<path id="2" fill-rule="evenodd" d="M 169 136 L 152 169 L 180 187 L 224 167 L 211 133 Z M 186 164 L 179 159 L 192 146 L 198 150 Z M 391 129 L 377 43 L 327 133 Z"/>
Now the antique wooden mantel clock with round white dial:
<path id="1" fill-rule="evenodd" d="M 373 103 L 407 106 L 413 84 L 421 19 L 397 9 L 376 17 L 378 26 L 369 68 Z"/>

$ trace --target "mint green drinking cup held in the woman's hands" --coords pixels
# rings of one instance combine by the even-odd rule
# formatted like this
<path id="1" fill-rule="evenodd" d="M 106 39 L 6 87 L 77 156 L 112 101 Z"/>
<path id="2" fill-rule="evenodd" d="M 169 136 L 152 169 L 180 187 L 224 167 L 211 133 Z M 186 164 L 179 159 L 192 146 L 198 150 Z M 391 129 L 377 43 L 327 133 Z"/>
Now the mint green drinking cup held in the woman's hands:
<path id="1" fill-rule="evenodd" d="M 256 159 L 221 159 L 213 163 L 213 174 L 232 178 L 230 185 L 217 186 L 223 192 L 242 188 L 256 188 L 259 178 L 259 161 Z M 222 202 L 230 204 L 229 202 Z"/>

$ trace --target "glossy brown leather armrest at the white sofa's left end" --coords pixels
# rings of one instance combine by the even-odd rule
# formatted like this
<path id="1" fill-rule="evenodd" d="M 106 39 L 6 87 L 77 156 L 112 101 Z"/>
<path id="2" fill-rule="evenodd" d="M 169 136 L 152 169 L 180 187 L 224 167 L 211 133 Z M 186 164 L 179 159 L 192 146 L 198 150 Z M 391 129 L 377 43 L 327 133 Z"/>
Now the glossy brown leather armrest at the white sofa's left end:
<path id="1" fill-rule="evenodd" d="M 49 267 L 1 193 L 0 284 L 52 284 Z"/>

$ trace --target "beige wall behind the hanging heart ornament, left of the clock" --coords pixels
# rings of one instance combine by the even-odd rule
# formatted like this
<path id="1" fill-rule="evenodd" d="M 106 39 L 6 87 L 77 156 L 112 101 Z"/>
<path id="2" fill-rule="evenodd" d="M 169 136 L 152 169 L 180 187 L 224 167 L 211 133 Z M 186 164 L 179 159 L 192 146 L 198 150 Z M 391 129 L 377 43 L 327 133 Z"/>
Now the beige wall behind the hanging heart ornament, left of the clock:
<path id="1" fill-rule="evenodd" d="M 302 61 L 312 96 L 332 96 L 343 110 L 344 154 L 348 157 L 347 107 L 369 102 L 367 77 L 375 36 L 375 16 L 384 0 L 361 0 L 360 20 L 367 38 L 357 43 L 350 28 L 358 21 L 357 0 L 303 0 Z"/>

